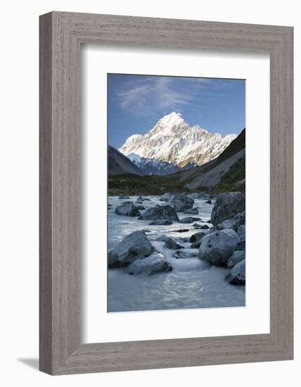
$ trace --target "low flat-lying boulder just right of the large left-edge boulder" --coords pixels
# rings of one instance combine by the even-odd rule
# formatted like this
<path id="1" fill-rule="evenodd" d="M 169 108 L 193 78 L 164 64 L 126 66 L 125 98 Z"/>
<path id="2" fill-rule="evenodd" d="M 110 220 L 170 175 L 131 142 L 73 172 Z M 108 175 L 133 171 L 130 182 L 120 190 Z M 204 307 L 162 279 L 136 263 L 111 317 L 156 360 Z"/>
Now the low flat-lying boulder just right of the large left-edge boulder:
<path id="1" fill-rule="evenodd" d="M 160 253 L 153 253 L 147 258 L 135 260 L 125 269 L 128 274 L 144 274 L 151 275 L 158 272 L 167 272 L 172 269 L 164 255 Z"/>

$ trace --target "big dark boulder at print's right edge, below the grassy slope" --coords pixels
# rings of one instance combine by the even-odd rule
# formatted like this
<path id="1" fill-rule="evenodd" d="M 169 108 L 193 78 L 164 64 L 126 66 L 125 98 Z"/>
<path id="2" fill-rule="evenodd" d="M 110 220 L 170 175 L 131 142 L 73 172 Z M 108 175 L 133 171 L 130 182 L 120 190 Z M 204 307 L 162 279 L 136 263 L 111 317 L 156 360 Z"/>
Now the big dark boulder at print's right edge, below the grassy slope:
<path id="1" fill-rule="evenodd" d="M 234 217 L 245 210 L 245 195 L 241 192 L 228 192 L 217 196 L 211 213 L 211 222 L 214 226 L 224 220 Z"/>

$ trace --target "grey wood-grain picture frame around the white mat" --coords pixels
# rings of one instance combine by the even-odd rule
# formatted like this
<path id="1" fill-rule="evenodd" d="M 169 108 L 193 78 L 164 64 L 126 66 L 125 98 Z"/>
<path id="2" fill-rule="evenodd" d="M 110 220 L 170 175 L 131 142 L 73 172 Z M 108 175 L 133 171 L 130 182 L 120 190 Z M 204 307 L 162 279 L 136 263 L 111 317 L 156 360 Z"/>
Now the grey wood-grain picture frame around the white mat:
<path id="1" fill-rule="evenodd" d="M 80 342 L 79 56 L 81 44 L 87 43 L 269 53 L 269 334 L 122 343 Z M 41 15 L 41 371 L 58 375 L 290 359 L 293 359 L 293 27 L 85 13 Z"/>

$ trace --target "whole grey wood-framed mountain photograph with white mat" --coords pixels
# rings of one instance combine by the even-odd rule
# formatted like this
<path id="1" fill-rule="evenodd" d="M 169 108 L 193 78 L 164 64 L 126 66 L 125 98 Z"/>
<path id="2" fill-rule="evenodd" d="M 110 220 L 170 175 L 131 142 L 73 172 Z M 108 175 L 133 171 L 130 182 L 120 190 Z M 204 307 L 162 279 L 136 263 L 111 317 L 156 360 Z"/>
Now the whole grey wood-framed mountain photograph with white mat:
<path id="1" fill-rule="evenodd" d="M 293 27 L 40 17 L 40 369 L 293 359 Z"/>

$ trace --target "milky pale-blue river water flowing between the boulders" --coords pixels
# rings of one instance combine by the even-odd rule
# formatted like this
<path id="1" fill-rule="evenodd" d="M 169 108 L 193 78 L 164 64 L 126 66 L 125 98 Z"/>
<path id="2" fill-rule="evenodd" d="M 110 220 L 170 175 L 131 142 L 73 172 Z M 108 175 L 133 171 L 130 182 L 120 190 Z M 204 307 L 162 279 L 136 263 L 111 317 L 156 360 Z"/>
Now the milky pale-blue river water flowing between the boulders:
<path id="1" fill-rule="evenodd" d="M 136 217 L 115 214 L 115 207 L 130 199 L 118 199 L 110 196 L 112 207 L 108 214 L 108 248 L 113 248 L 124 236 L 137 230 L 149 230 L 146 235 L 151 243 L 165 255 L 172 265 L 171 272 L 153 274 L 151 276 L 130 276 L 123 269 L 108 270 L 108 312 L 134 310 L 188 309 L 195 307 L 229 307 L 245 305 L 245 287 L 233 286 L 224 280 L 227 270 L 221 267 L 210 267 L 198 259 L 198 249 L 191 249 L 191 243 L 181 241 L 182 237 L 198 232 L 192 224 L 175 222 L 169 226 L 150 226 L 150 220 L 137 220 Z M 151 201 L 143 201 L 147 208 L 155 204 L 164 205 L 158 196 L 148 196 Z M 202 199 L 195 199 L 194 206 L 199 208 L 199 215 L 187 215 L 178 212 L 179 219 L 183 217 L 200 217 L 203 221 L 210 220 L 212 204 Z M 143 211 L 141 211 L 143 213 Z M 202 222 L 198 222 L 202 223 Z M 210 224 L 208 224 L 210 225 Z M 179 229 L 188 229 L 179 233 Z M 164 242 L 155 241 L 165 234 L 176 238 L 185 250 L 193 253 L 192 258 L 172 258 L 174 250 L 164 247 Z"/>

